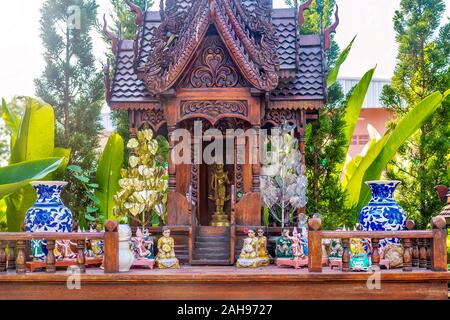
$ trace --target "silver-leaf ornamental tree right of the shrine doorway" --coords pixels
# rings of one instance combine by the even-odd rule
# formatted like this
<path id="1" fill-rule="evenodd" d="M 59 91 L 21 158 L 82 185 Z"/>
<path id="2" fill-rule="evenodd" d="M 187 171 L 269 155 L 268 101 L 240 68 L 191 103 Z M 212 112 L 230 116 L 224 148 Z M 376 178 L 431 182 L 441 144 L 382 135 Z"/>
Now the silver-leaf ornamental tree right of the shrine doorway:
<path id="1" fill-rule="evenodd" d="M 307 178 L 292 128 L 272 130 L 270 152 L 261 168 L 261 197 L 276 222 L 293 222 L 294 211 L 307 203 Z"/>

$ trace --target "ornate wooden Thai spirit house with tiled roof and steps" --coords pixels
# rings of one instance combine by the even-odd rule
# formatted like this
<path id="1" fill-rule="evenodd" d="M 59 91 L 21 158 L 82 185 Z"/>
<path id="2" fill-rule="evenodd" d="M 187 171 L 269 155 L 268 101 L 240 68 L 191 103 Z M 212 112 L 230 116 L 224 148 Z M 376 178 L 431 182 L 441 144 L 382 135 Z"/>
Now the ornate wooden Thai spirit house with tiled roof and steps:
<path id="1" fill-rule="evenodd" d="M 135 39 L 104 28 L 115 54 L 114 70 L 105 70 L 109 106 L 128 110 L 132 134 L 149 127 L 168 138 L 170 150 L 177 129 L 192 133 L 192 149 L 208 147 L 210 141 L 194 136 L 196 121 L 203 132 L 253 129 L 256 139 L 261 128 L 288 122 L 304 154 L 306 123 L 326 100 L 325 51 L 338 23 L 336 14 L 321 34 L 301 35 L 310 2 L 273 9 L 271 0 L 166 0 L 159 12 L 129 3 Z M 248 150 L 250 139 L 245 143 Z M 227 156 L 236 159 L 236 151 Z M 167 222 L 178 256 L 191 264 L 232 264 L 244 228 L 262 225 L 259 163 L 227 162 L 221 171 L 169 158 Z"/>

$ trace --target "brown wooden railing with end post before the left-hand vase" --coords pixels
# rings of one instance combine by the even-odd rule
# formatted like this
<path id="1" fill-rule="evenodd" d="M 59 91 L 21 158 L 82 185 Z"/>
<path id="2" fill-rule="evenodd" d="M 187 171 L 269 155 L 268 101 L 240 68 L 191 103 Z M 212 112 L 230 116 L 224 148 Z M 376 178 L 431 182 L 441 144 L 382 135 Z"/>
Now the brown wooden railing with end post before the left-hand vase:
<path id="1" fill-rule="evenodd" d="M 0 272 L 7 269 L 16 269 L 16 273 L 26 273 L 27 241 L 45 240 L 47 256 L 45 270 L 47 273 L 56 272 L 56 259 L 54 255 L 55 243 L 58 240 L 71 240 L 77 242 L 77 266 L 81 272 L 85 267 L 85 245 L 87 240 L 103 240 L 105 273 L 119 272 L 119 234 L 117 221 L 108 220 L 105 223 L 105 232 L 4 232 L 0 233 Z M 8 244 L 8 255 L 6 247 Z"/>

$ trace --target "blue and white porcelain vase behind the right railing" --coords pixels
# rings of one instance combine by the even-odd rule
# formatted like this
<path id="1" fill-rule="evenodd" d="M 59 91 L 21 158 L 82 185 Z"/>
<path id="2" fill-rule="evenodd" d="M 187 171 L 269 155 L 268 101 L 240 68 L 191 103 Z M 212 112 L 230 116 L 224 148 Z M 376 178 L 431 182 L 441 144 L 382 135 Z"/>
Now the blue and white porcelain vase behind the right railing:
<path id="1" fill-rule="evenodd" d="M 372 191 L 372 199 L 359 213 L 359 223 L 363 230 L 397 231 L 406 227 L 406 215 L 394 199 L 394 192 L 400 181 L 366 181 Z M 380 239 L 380 249 L 389 243 L 399 243 L 399 239 Z"/>

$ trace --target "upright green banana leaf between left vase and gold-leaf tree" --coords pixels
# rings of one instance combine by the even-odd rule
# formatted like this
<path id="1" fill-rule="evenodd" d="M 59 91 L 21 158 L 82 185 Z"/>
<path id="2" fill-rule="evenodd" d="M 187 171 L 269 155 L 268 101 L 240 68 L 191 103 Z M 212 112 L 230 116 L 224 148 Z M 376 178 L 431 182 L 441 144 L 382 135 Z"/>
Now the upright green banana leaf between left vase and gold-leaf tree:
<path id="1" fill-rule="evenodd" d="M 100 213 L 113 218 L 114 195 L 119 191 L 120 169 L 124 157 L 124 142 L 118 133 L 112 133 L 98 162 L 95 195 L 99 199 Z"/>

